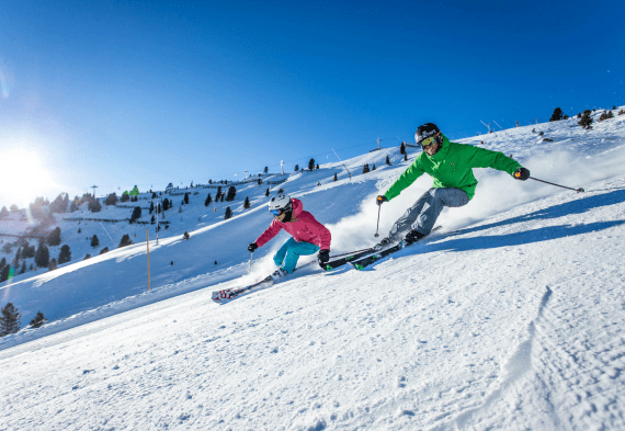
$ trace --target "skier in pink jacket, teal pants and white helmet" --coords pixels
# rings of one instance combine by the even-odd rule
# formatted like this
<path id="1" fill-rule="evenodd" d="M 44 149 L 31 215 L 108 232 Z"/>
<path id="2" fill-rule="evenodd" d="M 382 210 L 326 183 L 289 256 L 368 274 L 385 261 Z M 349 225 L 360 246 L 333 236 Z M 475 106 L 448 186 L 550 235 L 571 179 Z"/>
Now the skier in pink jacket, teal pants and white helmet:
<path id="1" fill-rule="evenodd" d="M 271 199 L 269 211 L 274 216 L 273 222 L 254 242 L 248 246 L 248 250 L 253 252 L 264 246 L 282 229 L 292 235 L 273 257 L 275 264 L 282 268 L 271 274 L 272 279 L 276 280 L 293 272 L 300 256 L 314 254 L 319 249 L 319 264 L 330 259 L 332 239 L 330 230 L 317 222 L 312 214 L 304 211 L 302 201 L 291 199 L 287 194 L 279 194 Z"/>

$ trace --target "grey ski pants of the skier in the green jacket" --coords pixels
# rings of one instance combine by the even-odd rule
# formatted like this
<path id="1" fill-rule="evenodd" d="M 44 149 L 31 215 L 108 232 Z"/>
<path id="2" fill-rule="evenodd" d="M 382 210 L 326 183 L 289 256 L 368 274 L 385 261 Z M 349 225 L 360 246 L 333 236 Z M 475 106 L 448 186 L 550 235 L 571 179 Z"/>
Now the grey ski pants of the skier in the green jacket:
<path id="1" fill-rule="evenodd" d="M 443 207 L 458 207 L 468 204 L 468 195 L 461 189 L 430 189 L 410 208 L 404 213 L 390 228 L 388 238 L 391 241 L 404 239 L 410 230 L 423 235 L 430 234 Z"/>

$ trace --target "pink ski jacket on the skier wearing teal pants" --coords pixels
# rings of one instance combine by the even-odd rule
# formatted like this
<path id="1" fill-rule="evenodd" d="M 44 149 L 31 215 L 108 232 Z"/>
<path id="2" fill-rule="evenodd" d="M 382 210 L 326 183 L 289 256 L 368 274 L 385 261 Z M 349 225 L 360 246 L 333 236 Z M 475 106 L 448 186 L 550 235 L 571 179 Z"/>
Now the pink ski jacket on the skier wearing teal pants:
<path id="1" fill-rule="evenodd" d="M 264 246 L 284 229 L 298 242 L 310 242 L 319 246 L 321 250 L 330 250 L 330 241 L 332 239 L 330 230 L 317 222 L 312 214 L 304 211 L 302 201 L 294 199 L 292 203 L 293 217 L 291 222 L 282 223 L 274 218 L 269 228 L 257 239 L 257 245 L 259 247 Z"/>

